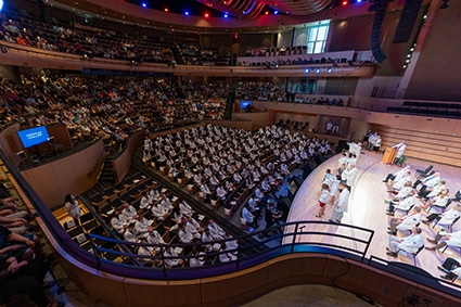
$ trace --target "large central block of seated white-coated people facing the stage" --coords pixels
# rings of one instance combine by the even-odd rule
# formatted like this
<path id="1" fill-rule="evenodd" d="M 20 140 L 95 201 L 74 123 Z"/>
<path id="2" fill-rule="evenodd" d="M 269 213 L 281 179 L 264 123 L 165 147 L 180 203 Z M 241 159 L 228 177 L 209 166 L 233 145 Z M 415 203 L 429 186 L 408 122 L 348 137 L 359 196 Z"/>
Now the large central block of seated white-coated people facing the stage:
<path id="1" fill-rule="evenodd" d="M 294 166 L 331 151 L 326 140 L 309 139 L 277 125 L 256 133 L 207 125 L 157 137 L 152 141 L 154 150 L 146 142 L 144 163 L 163 168 L 175 181 L 185 178 L 188 189 L 200 191 L 205 202 L 225 206 L 241 184 L 254 189 L 257 201 L 266 201 Z"/>

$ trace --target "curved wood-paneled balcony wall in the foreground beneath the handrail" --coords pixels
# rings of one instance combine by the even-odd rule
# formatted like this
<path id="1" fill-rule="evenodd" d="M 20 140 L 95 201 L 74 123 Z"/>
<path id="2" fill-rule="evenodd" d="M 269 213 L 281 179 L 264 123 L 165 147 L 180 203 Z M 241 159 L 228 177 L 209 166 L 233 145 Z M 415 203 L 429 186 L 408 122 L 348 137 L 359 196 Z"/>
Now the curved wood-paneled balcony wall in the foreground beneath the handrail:
<path id="1" fill-rule="evenodd" d="M 276 257 L 252 268 L 194 280 L 163 281 L 124 278 L 75 263 L 60 263 L 87 294 L 111 306 L 233 306 L 294 284 L 323 284 L 364 295 L 383 306 L 397 306 L 409 293 L 434 306 L 459 306 L 459 297 L 342 257 L 299 253 Z M 424 289 L 422 291 L 421 289 Z"/>

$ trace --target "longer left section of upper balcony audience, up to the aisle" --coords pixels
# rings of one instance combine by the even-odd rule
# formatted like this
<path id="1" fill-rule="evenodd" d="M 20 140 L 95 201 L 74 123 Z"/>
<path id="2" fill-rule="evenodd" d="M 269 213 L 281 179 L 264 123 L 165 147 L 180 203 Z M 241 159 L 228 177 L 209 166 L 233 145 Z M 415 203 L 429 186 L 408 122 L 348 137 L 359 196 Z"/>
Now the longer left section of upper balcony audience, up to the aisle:
<path id="1" fill-rule="evenodd" d="M 99 28 L 84 29 L 63 24 L 18 18 L 14 13 L 0 14 L 0 39 L 18 44 L 92 57 L 127 60 L 138 63 L 170 63 L 170 46 L 152 40 L 131 40 Z M 112 34 L 111 34 L 112 33 Z"/>

